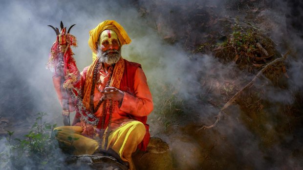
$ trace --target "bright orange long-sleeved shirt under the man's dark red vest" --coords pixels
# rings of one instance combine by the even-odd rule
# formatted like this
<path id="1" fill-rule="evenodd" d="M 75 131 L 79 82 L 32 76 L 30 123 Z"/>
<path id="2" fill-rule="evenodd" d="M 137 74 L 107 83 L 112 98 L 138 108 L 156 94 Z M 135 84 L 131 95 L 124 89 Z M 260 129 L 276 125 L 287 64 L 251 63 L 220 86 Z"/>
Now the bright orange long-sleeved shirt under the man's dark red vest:
<path id="1" fill-rule="evenodd" d="M 81 84 L 84 84 L 84 81 L 86 79 L 86 72 L 87 67 L 82 72 Z M 100 98 L 102 97 L 102 94 L 98 91 L 98 89 L 101 91 L 104 90 L 106 83 L 108 82 L 108 78 L 109 75 L 103 68 L 101 68 L 99 80 L 100 83 L 97 84 L 94 89 L 94 108 L 97 106 Z M 125 121 L 131 118 L 130 115 L 147 116 L 153 110 L 151 92 L 147 84 L 146 76 L 140 67 L 138 67 L 135 71 L 133 86 L 134 94 L 132 95 L 127 92 L 124 92 L 121 107 L 119 108 L 118 106 L 116 106 L 116 108 L 114 109 L 111 119 L 112 128 L 119 127 L 121 121 Z M 95 113 L 97 117 L 102 116 L 103 104 L 104 103 L 101 104 L 98 111 Z M 76 116 L 79 115 L 80 114 L 77 114 Z"/>

